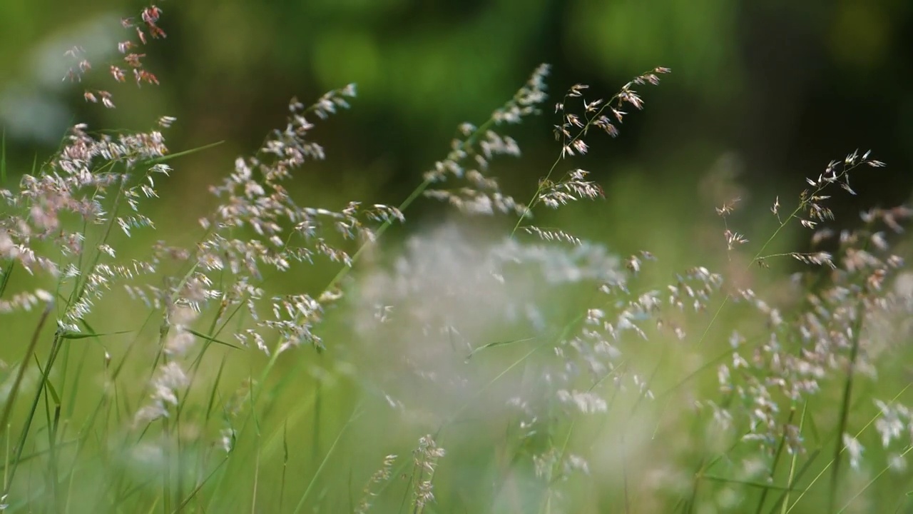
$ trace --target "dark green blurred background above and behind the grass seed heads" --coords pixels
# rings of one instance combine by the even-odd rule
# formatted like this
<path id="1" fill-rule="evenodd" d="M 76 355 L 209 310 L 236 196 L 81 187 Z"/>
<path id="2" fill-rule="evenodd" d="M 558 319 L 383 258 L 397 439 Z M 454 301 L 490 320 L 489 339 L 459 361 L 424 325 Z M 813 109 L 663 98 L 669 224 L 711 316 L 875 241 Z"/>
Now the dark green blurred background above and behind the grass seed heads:
<path id="1" fill-rule="evenodd" d="M 170 198 L 195 217 L 205 212 L 194 201 L 200 186 L 282 125 L 290 97 L 309 102 L 356 82 L 352 112 L 320 123 L 315 137 L 329 160 L 301 187 L 328 205 L 398 203 L 446 154 L 458 123 L 484 121 L 550 62 L 553 95 L 583 82 L 590 99 L 644 70 L 673 70 L 658 88 L 641 88 L 646 112 L 628 117 L 618 141 L 591 145 L 593 155 L 573 165 L 607 188 L 648 186 L 634 191 L 646 193 L 637 198 L 643 208 L 607 219 L 609 227 L 656 209 L 677 212 L 679 198 L 698 193 L 700 177 L 720 163 L 749 186 L 743 200 L 765 209 L 856 147 L 890 167 L 855 177 L 863 198 L 850 212 L 905 201 L 913 184 L 913 5 L 905 0 L 163 1 L 168 38 L 140 50 L 162 85 L 138 91 L 130 81 L 114 84 L 107 67 L 120 59 L 116 43 L 132 37 L 119 18 L 142 6 L 0 6 L 0 123 L 11 164 L 30 168 L 71 123 L 145 129 L 175 115 L 173 151 L 226 141 L 175 162 Z M 95 67 L 86 84 L 61 81 L 73 45 Z M 118 109 L 83 102 L 86 85 L 111 91 Z M 557 155 L 555 117 L 545 114 L 514 131 L 527 157 L 496 170 L 519 198 L 529 198 Z"/>

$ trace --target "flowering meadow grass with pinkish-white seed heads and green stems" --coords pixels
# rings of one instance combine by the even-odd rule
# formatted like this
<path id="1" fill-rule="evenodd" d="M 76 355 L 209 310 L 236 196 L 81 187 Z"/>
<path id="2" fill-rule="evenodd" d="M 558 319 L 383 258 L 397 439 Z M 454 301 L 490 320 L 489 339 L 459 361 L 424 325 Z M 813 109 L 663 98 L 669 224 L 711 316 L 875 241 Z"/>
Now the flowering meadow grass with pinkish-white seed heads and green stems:
<path id="1" fill-rule="evenodd" d="M 131 30 L 162 37 L 160 16 L 147 7 Z M 121 44 L 124 59 L 155 84 L 137 44 Z M 291 198 L 291 172 L 324 157 L 312 121 L 355 89 L 293 100 L 286 127 L 201 191 L 212 209 L 181 247 L 153 231 L 150 201 L 174 157 L 208 146 L 169 152 L 173 119 L 139 134 L 76 125 L 27 173 L 7 170 L 4 135 L 0 316 L 23 334 L 0 375 L 5 509 L 909 509 L 913 274 L 893 234 L 911 211 L 872 209 L 837 232 L 827 207 L 853 194 L 851 173 L 883 163 L 853 152 L 792 210 L 776 198 L 760 244 L 725 198 L 718 236 L 687 265 L 663 264 L 671 248 L 614 255 L 541 223 L 605 197 L 578 166 L 668 71 L 607 100 L 567 91 L 556 158 L 522 199 L 495 171 L 520 156 L 510 125 L 540 115 L 547 66 L 458 127 L 398 207 Z M 113 105 L 107 91 L 86 99 Z M 421 198 L 487 230 L 448 221 L 386 244 Z M 795 233 L 813 250 L 782 250 Z M 313 262 L 338 271 L 296 291 Z"/>

